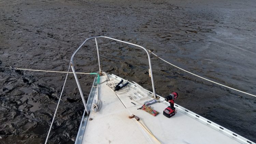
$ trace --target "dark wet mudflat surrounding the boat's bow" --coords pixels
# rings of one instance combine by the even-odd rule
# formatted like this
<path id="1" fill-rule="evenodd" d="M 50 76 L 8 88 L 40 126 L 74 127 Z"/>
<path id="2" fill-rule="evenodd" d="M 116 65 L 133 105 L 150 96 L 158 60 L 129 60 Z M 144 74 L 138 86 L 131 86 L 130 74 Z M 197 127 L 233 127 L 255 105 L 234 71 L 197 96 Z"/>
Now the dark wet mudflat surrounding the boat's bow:
<path id="1" fill-rule="evenodd" d="M 186 70 L 256 93 L 256 3 L 209 1 L 0 1 L 0 140 L 43 143 L 75 49 L 105 35 L 151 49 Z M 102 69 L 152 90 L 147 57 L 138 49 L 99 40 Z M 256 99 L 219 87 L 151 57 L 156 92 L 180 94 L 187 109 L 256 141 Z M 75 59 L 80 72 L 98 70 L 95 44 Z M 10 68 L 12 67 L 12 68 Z M 84 95 L 93 77 L 79 75 Z M 68 76 L 50 143 L 74 143 L 83 104 Z"/>

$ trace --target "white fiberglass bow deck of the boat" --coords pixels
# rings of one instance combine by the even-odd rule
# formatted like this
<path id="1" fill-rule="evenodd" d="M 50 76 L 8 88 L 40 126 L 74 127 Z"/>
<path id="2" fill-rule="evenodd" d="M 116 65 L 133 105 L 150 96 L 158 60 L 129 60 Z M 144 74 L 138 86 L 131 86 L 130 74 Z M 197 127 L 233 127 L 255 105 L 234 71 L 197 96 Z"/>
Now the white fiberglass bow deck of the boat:
<path id="1" fill-rule="evenodd" d="M 121 79 L 115 75 L 108 75 L 111 79 Z M 100 77 L 103 81 L 104 76 Z M 102 107 L 94 113 L 91 108 L 89 116 L 83 117 L 76 143 L 114 143 L 114 144 L 148 144 L 158 143 L 135 118 L 136 115 L 143 121 L 146 127 L 153 133 L 155 138 L 166 144 L 236 144 L 253 143 L 242 136 L 190 112 L 176 105 L 178 112 L 171 118 L 163 115 L 163 110 L 169 105 L 167 102 L 159 102 L 150 105 L 159 114 L 153 116 L 143 110 L 137 110 L 143 102 L 151 100 L 148 97 L 138 102 L 130 100 L 127 93 L 116 95 L 104 82 L 99 85 L 99 99 Z M 136 88 L 131 83 L 128 85 Z M 150 95 L 149 91 L 147 91 Z M 97 94 L 97 88 L 91 90 L 87 105 L 91 106 L 91 100 Z M 182 96 L 181 96 L 182 97 Z M 159 101 L 163 98 L 160 97 Z M 136 105 L 132 104 L 136 103 Z M 89 120 L 89 119 L 92 120 Z"/>

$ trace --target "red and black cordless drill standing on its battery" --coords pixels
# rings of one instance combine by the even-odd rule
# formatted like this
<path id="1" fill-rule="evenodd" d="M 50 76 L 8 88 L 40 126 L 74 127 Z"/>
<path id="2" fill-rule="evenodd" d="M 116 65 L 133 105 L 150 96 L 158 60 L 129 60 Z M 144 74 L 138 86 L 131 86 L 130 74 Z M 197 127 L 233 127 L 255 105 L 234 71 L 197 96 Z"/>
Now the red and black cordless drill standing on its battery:
<path id="1" fill-rule="evenodd" d="M 177 112 L 175 110 L 174 107 L 174 100 L 178 97 L 178 93 L 177 92 L 172 92 L 169 96 L 165 97 L 165 100 L 168 101 L 170 103 L 170 106 L 168 106 L 164 111 L 163 111 L 163 115 L 165 115 L 166 117 L 170 118 L 172 116 L 175 115 L 175 113 Z"/>

